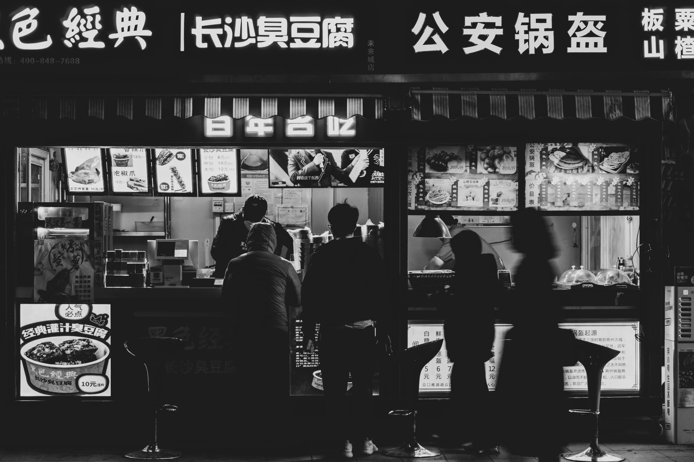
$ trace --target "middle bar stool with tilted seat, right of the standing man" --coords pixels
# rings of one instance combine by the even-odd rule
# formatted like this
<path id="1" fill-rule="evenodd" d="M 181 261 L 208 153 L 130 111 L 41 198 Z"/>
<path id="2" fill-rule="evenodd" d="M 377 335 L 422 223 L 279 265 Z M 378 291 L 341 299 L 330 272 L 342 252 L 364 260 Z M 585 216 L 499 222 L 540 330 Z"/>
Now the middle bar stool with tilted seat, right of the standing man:
<path id="1" fill-rule="evenodd" d="M 430 362 L 443 345 L 443 339 L 428 341 L 424 344 L 407 348 L 396 353 L 396 359 L 403 366 L 405 372 L 405 392 L 407 393 L 407 410 L 390 411 L 391 416 L 401 416 L 410 420 L 409 434 L 405 437 L 405 443 L 399 447 L 384 452 L 391 457 L 419 458 L 434 457 L 441 452 L 428 450 L 417 443 L 416 438 L 416 414 L 419 400 L 419 376 L 425 364 Z"/>

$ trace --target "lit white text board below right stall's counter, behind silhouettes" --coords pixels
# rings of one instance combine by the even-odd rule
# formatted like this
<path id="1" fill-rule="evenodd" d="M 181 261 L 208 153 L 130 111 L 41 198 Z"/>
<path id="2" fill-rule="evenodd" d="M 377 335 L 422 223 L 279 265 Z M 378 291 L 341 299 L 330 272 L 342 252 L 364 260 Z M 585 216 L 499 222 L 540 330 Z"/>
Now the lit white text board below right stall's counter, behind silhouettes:
<path id="1" fill-rule="evenodd" d="M 638 322 L 604 322 L 604 323 L 561 323 L 560 328 L 573 330 L 579 340 L 592 341 L 604 345 L 620 354 L 605 365 L 602 373 L 602 390 L 638 391 L 639 389 L 639 347 L 634 334 L 638 333 Z M 495 324 L 493 343 L 494 356 L 484 365 L 487 371 L 487 387 L 496 389 L 498 372 L 502 367 L 504 339 L 511 324 Z M 407 346 L 412 347 L 426 341 L 443 338 L 443 323 L 427 321 L 407 325 Z M 450 371 L 452 363 L 446 355 L 446 341 L 441 350 L 422 369 L 419 380 L 419 391 L 450 391 Z M 587 391 L 586 371 L 581 363 L 564 367 L 564 389 L 570 391 Z"/>

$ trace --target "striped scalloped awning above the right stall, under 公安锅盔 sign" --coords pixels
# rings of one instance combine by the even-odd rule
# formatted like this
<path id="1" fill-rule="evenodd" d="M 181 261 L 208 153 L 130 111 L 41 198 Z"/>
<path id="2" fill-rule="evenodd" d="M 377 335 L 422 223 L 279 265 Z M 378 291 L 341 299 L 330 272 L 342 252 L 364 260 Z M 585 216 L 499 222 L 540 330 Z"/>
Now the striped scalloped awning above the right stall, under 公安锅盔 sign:
<path id="1" fill-rule="evenodd" d="M 564 89 L 410 89 L 412 118 L 428 121 L 446 118 L 502 119 L 525 117 L 605 118 L 672 121 L 672 94 L 668 90 L 564 90 Z"/>

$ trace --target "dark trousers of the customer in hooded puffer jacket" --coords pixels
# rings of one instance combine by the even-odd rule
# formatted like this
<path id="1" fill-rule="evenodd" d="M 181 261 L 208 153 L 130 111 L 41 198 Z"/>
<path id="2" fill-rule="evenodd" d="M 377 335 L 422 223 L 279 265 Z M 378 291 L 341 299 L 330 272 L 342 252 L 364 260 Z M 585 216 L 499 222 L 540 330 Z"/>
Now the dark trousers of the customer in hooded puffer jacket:
<path id="1" fill-rule="evenodd" d="M 254 439 L 260 441 L 286 438 L 289 335 L 280 328 L 244 326 L 236 331 L 234 343 L 243 430 L 251 430 Z"/>

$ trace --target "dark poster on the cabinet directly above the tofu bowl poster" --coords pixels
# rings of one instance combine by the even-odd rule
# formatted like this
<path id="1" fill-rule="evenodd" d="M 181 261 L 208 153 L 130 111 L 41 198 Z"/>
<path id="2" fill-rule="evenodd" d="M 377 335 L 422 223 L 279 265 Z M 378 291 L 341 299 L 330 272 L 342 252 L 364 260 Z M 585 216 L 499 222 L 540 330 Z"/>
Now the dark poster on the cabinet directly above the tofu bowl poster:
<path id="1" fill-rule="evenodd" d="M 35 240 L 34 301 L 94 301 L 94 242 L 71 239 Z"/>

